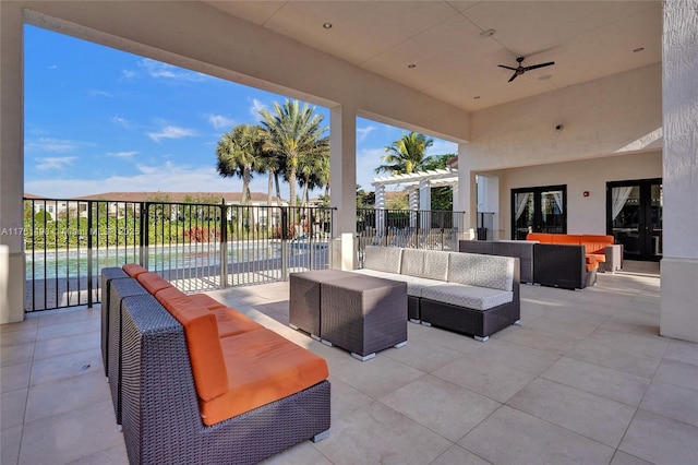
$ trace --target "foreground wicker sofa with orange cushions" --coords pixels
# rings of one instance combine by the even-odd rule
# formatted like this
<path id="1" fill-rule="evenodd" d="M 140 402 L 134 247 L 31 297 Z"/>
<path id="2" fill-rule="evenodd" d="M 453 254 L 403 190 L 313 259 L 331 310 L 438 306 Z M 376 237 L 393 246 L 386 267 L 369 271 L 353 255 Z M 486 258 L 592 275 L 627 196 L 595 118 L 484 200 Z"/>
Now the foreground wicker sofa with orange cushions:
<path id="1" fill-rule="evenodd" d="M 109 383 L 130 463 L 252 464 L 327 434 L 323 358 L 139 269 L 103 288 Z"/>

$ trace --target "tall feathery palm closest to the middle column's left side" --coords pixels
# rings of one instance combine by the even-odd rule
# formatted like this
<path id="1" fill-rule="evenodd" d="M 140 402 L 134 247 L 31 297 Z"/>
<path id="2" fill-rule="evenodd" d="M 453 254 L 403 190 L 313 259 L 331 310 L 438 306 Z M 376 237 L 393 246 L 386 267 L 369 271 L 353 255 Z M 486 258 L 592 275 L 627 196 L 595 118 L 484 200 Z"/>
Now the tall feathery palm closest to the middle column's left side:
<path id="1" fill-rule="evenodd" d="M 284 106 L 274 103 L 274 112 L 260 111 L 265 130 L 264 148 L 279 155 L 286 165 L 285 175 L 290 184 L 289 202 L 296 206 L 296 181 L 299 158 L 303 155 L 322 154 L 329 147 L 327 136 L 322 138 L 326 128 L 321 126 L 323 117 L 315 115 L 314 108 L 298 100 L 286 100 Z"/>

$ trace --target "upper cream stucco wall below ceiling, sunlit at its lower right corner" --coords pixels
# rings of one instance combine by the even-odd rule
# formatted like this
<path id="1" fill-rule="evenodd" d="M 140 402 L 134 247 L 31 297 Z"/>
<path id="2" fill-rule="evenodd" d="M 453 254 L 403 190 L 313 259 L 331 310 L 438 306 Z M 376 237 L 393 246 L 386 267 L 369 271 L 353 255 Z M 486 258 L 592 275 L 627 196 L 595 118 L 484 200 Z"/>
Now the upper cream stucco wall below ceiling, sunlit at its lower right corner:
<path id="1" fill-rule="evenodd" d="M 477 111 L 460 156 L 473 170 L 610 156 L 661 148 L 661 130 L 655 64 Z"/>

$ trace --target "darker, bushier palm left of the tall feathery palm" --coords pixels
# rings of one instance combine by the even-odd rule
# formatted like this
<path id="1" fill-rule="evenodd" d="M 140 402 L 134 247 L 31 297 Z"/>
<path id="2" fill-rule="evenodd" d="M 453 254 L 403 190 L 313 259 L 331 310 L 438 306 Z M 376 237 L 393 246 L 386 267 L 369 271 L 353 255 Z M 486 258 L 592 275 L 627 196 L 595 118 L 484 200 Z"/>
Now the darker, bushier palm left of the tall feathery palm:
<path id="1" fill-rule="evenodd" d="M 242 178 L 241 204 L 250 200 L 250 181 L 253 172 L 265 172 L 265 154 L 262 151 L 263 136 L 261 128 L 254 124 L 238 124 L 222 134 L 216 156 L 216 169 L 224 178 L 237 176 Z"/>

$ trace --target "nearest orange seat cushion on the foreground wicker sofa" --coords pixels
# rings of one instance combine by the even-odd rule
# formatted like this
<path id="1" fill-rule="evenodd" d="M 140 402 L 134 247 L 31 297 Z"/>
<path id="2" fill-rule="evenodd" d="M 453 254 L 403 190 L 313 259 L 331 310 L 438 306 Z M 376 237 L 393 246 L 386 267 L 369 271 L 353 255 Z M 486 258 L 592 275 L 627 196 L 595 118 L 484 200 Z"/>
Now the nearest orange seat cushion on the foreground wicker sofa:
<path id="1" fill-rule="evenodd" d="M 224 337 L 220 344 L 230 389 L 213 401 L 200 403 L 206 425 L 278 401 L 329 375 L 324 358 L 267 329 Z"/>

